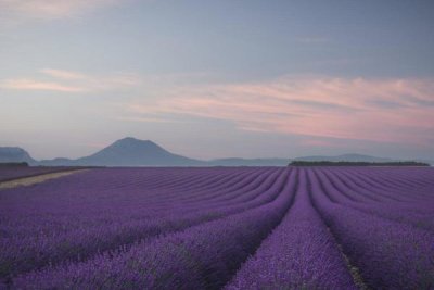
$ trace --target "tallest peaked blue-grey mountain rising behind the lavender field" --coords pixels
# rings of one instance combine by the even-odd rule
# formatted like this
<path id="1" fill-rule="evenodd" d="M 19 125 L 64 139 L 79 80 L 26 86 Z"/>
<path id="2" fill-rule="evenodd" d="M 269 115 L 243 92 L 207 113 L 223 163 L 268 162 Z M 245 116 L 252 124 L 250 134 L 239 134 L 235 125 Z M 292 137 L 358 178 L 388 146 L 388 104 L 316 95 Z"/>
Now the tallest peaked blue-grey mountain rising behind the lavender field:
<path id="1" fill-rule="evenodd" d="M 200 166 L 202 161 L 170 153 L 150 140 L 127 137 L 101 151 L 72 161 L 73 165 L 97 166 Z"/>

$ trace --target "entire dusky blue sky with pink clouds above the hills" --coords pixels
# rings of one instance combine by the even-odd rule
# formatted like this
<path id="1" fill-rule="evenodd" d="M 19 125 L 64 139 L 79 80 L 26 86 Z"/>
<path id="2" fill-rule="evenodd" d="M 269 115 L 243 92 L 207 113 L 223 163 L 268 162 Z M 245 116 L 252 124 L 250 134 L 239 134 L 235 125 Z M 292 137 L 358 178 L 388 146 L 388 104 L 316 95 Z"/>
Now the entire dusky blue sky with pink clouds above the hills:
<path id="1" fill-rule="evenodd" d="M 0 0 L 0 146 L 434 160 L 434 1 Z"/>

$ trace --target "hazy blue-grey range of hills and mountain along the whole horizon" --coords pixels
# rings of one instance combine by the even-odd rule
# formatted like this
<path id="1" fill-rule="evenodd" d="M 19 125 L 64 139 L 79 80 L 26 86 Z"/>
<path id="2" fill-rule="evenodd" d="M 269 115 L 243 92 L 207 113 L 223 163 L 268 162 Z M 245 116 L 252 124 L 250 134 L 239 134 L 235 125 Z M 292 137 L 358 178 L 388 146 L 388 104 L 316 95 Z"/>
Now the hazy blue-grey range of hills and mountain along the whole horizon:
<path id="1" fill-rule="evenodd" d="M 127 137 L 89 156 L 72 160 L 34 160 L 24 149 L 0 147 L 0 163 L 27 162 L 42 166 L 286 166 L 292 161 L 330 162 L 393 162 L 398 160 L 375 157 L 362 154 L 343 154 L 337 156 L 303 156 L 290 159 L 216 159 L 201 161 L 174 154 L 150 140 Z M 407 160 L 405 160 L 407 161 Z M 434 165 L 433 161 L 416 160 Z"/>

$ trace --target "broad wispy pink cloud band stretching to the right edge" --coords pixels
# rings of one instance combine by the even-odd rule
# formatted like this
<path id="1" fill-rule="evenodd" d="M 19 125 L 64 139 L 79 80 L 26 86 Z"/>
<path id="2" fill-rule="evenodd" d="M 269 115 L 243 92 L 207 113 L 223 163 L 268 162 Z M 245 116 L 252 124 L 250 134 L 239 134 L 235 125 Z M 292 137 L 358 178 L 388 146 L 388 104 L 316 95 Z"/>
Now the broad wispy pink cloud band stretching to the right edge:
<path id="1" fill-rule="evenodd" d="M 425 133 L 434 129 L 434 106 L 423 105 L 434 101 L 432 91 L 431 79 L 281 77 L 178 87 L 128 110 L 225 119 L 246 130 L 422 144 L 433 141 Z"/>

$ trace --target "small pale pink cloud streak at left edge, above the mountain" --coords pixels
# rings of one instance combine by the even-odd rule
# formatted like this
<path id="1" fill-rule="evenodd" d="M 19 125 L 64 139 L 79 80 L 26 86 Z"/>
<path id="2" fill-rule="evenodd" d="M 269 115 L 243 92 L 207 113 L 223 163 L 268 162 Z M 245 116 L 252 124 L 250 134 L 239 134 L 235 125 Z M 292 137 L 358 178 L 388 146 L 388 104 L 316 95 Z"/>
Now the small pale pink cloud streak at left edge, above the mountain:
<path id="1" fill-rule="evenodd" d="M 97 92 L 128 89 L 141 84 L 129 73 L 91 75 L 65 70 L 43 68 L 37 77 L 0 79 L 0 88 L 14 90 L 52 90 L 59 92 Z"/>

